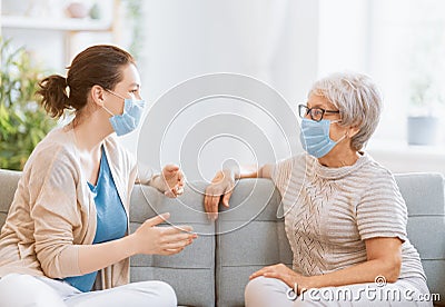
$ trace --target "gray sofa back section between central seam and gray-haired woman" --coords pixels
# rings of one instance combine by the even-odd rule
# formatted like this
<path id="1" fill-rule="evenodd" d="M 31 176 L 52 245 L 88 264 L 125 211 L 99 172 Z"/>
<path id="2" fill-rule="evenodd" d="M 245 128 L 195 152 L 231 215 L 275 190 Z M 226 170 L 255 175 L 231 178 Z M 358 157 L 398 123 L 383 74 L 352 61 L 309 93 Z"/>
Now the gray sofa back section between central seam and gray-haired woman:
<path id="1" fill-rule="evenodd" d="M 249 275 L 278 263 L 291 266 L 283 219 L 277 218 L 280 195 L 268 179 L 244 179 L 217 219 L 217 306 L 244 306 Z"/>

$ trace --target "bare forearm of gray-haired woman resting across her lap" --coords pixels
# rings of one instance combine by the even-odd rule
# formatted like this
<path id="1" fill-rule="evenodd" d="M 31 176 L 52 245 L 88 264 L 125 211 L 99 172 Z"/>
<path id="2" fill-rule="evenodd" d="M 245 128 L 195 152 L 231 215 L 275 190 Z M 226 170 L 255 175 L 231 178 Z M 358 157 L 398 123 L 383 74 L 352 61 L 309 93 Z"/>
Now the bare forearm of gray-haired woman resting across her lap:
<path id="1" fill-rule="evenodd" d="M 329 274 L 308 277 L 307 285 L 303 286 L 323 288 L 374 283 L 377 276 L 383 276 L 387 283 L 395 283 L 399 276 L 399 270 L 400 266 L 396 261 L 374 259 Z"/>

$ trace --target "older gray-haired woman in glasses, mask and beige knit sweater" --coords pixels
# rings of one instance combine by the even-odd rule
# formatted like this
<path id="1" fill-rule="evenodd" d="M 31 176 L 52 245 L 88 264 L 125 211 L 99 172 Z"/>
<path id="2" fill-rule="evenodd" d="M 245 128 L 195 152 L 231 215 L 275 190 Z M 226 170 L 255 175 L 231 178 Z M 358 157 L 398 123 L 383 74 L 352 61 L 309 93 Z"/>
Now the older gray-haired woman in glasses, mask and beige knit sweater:
<path id="1" fill-rule="evenodd" d="M 216 175 L 205 199 L 212 218 L 220 195 L 228 206 L 235 179 L 270 178 L 283 196 L 293 269 L 254 273 L 246 306 L 431 306 L 422 301 L 428 288 L 406 235 L 405 201 L 390 171 L 363 151 L 380 110 L 367 76 L 328 76 L 298 106 L 306 154 Z"/>

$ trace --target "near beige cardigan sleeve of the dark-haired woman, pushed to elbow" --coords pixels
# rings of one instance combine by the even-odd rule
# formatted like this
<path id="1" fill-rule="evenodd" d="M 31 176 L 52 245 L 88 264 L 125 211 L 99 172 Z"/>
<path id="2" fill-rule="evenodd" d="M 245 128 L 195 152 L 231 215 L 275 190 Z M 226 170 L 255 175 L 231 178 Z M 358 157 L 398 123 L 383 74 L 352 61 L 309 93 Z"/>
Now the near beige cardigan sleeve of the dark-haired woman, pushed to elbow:
<path id="1" fill-rule="evenodd" d="M 78 246 L 73 242 L 73 230 L 82 226 L 77 201 L 78 175 L 62 151 L 51 148 L 37 154 L 28 177 L 34 249 L 50 278 L 81 275 Z"/>

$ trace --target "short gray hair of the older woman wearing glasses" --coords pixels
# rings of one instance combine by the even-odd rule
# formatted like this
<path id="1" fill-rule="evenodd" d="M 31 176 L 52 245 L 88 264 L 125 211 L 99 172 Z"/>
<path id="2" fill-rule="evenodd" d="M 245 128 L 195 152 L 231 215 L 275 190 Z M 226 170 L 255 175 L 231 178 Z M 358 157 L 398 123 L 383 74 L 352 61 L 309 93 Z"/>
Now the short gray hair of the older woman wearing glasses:
<path id="1" fill-rule="evenodd" d="M 358 127 L 352 138 L 356 150 L 363 149 L 377 128 L 382 112 L 382 93 L 366 75 L 337 72 L 314 83 L 310 95 L 323 96 L 339 111 L 342 126 Z"/>

